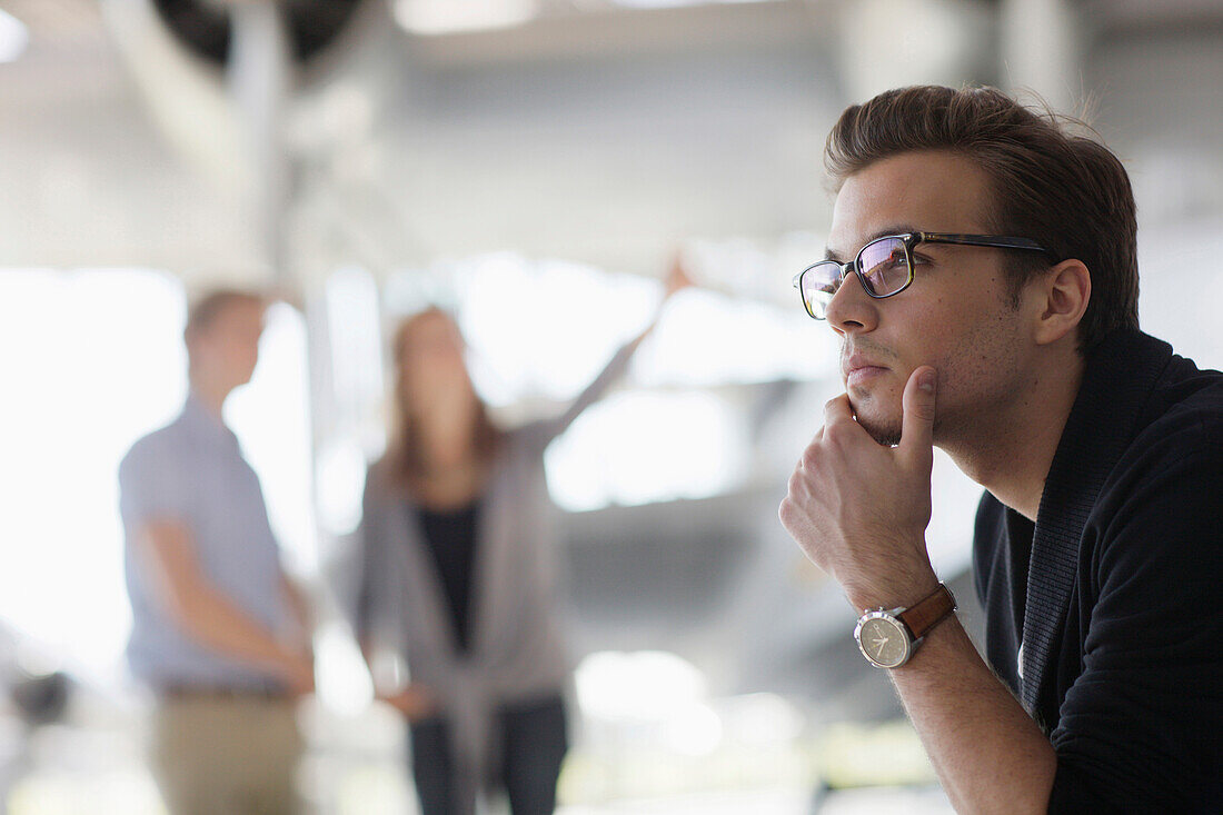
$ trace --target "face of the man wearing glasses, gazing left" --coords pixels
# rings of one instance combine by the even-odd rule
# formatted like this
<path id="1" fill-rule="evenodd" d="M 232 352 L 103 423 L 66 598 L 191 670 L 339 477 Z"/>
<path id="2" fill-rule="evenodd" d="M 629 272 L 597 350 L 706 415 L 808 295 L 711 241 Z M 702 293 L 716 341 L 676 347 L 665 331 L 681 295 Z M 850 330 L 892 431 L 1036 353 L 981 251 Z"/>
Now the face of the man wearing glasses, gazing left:
<path id="1" fill-rule="evenodd" d="M 989 210 L 988 176 L 970 159 L 904 153 L 846 179 L 828 255 L 851 261 L 872 239 L 898 233 L 989 233 Z M 884 444 L 900 438 L 900 398 L 917 366 L 938 370 L 936 443 L 982 427 L 1026 389 L 1022 367 L 1032 344 L 1010 301 L 1003 251 L 918 244 L 912 255 L 906 290 L 873 300 L 849 277 L 828 306 L 850 403 Z"/>

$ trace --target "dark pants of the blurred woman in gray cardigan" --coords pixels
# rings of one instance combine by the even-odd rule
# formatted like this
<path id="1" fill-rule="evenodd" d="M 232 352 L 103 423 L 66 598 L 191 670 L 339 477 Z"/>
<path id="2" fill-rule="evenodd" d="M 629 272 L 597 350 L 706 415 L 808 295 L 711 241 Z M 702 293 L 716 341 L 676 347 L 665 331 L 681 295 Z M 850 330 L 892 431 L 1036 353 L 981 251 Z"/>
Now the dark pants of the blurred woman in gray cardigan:
<path id="1" fill-rule="evenodd" d="M 569 749 L 565 706 L 559 695 L 504 705 L 494 716 L 500 729 L 500 776 L 514 815 L 550 815 L 556 777 Z M 494 757 L 495 760 L 497 757 Z M 450 727 L 430 718 L 412 724 L 412 777 L 423 815 L 456 811 L 450 760 Z"/>

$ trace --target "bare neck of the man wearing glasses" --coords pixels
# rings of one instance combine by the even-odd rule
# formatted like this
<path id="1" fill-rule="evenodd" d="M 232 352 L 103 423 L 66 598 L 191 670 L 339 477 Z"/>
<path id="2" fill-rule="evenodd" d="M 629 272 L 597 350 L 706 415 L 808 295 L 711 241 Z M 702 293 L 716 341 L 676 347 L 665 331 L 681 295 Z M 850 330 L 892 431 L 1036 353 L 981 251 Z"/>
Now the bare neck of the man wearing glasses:
<path id="1" fill-rule="evenodd" d="M 994 498 L 1035 521 L 1044 481 L 1082 383 L 1075 354 L 1033 377 L 1024 399 L 974 438 L 944 445 L 956 466 Z"/>

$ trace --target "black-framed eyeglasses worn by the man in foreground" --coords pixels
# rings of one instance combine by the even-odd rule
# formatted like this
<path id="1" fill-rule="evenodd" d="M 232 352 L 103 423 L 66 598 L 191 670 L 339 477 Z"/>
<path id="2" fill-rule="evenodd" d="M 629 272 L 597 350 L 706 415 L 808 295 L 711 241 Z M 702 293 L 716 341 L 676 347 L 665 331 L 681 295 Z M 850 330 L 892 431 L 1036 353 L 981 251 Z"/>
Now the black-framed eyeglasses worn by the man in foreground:
<path id="1" fill-rule="evenodd" d="M 950 233 L 905 233 L 884 235 L 863 246 L 849 263 L 821 261 L 808 266 L 794 278 L 794 288 L 802 295 L 802 306 L 816 319 L 823 319 L 828 303 L 852 272 L 866 294 L 876 300 L 898 295 L 914 281 L 912 251 L 918 244 L 960 244 L 997 248 L 1048 250 L 1027 237 L 1005 235 L 958 235 Z"/>

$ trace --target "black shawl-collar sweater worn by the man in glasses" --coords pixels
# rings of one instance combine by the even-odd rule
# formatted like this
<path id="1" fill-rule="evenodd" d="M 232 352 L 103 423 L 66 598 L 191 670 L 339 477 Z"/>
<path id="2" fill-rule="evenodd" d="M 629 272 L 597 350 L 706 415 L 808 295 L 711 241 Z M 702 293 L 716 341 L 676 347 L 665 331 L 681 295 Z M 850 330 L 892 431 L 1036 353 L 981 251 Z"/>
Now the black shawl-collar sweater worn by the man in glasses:
<path id="1" fill-rule="evenodd" d="M 1107 338 L 1036 524 L 986 493 L 974 560 L 987 657 L 1057 751 L 1049 811 L 1223 813 L 1223 374 Z"/>

